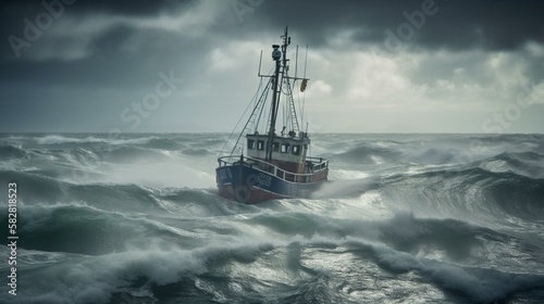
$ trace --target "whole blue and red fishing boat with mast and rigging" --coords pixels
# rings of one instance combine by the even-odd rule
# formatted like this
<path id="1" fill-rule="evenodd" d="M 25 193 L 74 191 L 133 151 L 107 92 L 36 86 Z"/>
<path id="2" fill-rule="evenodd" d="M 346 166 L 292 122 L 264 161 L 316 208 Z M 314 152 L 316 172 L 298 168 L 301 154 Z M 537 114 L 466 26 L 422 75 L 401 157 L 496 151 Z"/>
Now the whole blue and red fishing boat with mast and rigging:
<path id="1" fill-rule="evenodd" d="M 309 198 L 326 180 L 329 174 L 327 160 L 311 157 L 308 124 L 306 130 L 300 129 L 304 119 L 304 92 L 309 81 L 306 78 L 308 56 L 305 59 L 304 76 L 298 77 L 297 47 L 295 74 L 289 76 L 287 48 L 290 37 L 287 35 L 287 27 L 281 38 L 281 46 L 272 46 L 274 66 L 269 74 L 261 74 L 261 52 L 258 73 L 260 84 L 246 113 L 249 113 L 249 109 L 252 111 L 231 152 L 227 155 L 222 155 L 221 152 L 218 156 L 215 179 L 219 194 L 240 203 Z M 306 50 L 307 54 L 308 48 Z M 296 92 L 294 88 L 298 86 L 299 92 Z M 295 103 L 295 93 L 298 104 Z M 297 105 L 301 112 L 300 122 Z M 283 125 L 277 134 L 280 114 L 283 114 Z M 227 140 L 228 142 L 232 141 Z"/>

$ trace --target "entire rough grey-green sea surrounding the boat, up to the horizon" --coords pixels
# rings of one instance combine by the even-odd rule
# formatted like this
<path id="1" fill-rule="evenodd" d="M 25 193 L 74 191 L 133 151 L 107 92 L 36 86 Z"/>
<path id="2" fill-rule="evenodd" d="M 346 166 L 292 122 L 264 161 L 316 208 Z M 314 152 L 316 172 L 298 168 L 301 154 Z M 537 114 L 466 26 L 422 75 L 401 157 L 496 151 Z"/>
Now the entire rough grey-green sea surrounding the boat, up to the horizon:
<path id="1" fill-rule="evenodd" d="M 227 135 L 0 135 L 0 303 L 544 303 L 544 136 L 310 137 L 314 198 L 243 205 Z"/>

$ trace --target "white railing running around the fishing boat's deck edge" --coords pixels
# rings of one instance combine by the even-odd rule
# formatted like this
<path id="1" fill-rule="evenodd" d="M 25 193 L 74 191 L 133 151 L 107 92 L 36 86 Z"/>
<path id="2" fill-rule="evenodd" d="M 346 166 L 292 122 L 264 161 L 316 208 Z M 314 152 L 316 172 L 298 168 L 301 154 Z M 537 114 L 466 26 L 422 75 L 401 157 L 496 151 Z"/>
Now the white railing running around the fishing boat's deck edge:
<path id="1" fill-rule="evenodd" d="M 292 182 L 312 182 L 321 180 L 326 176 L 329 170 L 329 161 L 321 157 L 306 157 L 306 164 L 310 173 L 294 173 L 280 168 L 279 166 L 272 165 L 263 160 L 254 159 L 249 156 L 223 156 L 218 159 L 220 167 L 227 165 L 234 165 L 240 161 L 249 164 L 250 166 L 257 165 L 260 169 L 272 173 L 275 176 Z"/>

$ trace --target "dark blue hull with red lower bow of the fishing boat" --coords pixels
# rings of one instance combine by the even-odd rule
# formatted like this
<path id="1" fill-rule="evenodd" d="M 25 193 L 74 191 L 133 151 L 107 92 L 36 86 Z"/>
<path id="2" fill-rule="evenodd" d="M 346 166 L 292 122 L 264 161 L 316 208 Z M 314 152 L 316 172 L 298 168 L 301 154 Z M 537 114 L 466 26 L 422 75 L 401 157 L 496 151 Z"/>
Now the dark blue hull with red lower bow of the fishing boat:
<path id="1" fill-rule="evenodd" d="M 288 198 L 309 198 L 326 180 L 293 182 L 247 163 L 215 169 L 219 194 L 245 204 Z"/>

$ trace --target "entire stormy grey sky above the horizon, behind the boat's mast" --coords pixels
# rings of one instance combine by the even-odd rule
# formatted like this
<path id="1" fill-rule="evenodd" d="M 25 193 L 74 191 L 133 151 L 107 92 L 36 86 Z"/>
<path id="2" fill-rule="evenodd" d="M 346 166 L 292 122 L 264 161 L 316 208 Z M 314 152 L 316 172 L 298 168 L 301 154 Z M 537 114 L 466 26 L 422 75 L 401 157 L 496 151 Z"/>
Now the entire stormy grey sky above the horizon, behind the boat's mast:
<path id="1" fill-rule="evenodd" d="M 0 132 L 228 132 L 285 26 L 293 61 L 309 46 L 312 132 L 544 132 L 543 12 L 528 0 L 2 1 Z"/>

